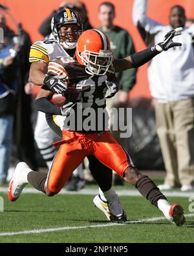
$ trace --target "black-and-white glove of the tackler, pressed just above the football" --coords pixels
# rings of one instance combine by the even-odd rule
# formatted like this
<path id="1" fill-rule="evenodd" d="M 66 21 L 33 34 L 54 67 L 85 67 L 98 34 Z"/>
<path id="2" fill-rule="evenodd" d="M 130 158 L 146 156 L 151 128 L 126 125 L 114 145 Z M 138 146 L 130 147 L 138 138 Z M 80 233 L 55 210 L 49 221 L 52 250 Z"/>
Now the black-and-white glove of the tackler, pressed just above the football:
<path id="1" fill-rule="evenodd" d="M 58 75 L 46 75 L 43 84 L 45 84 L 52 92 L 63 94 L 67 90 L 67 82 L 59 79 Z"/>

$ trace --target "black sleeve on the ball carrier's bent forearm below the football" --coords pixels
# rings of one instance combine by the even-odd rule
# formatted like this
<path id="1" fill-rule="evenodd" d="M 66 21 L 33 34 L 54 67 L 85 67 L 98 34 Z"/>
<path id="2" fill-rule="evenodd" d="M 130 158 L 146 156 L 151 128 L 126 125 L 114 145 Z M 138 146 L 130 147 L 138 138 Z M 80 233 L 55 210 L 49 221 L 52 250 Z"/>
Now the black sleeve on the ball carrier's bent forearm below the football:
<path id="1" fill-rule="evenodd" d="M 44 112 L 46 114 L 56 114 L 61 115 L 61 107 L 52 104 L 47 97 L 41 97 L 36 99 L 35 106 L 38 111 Z"/>

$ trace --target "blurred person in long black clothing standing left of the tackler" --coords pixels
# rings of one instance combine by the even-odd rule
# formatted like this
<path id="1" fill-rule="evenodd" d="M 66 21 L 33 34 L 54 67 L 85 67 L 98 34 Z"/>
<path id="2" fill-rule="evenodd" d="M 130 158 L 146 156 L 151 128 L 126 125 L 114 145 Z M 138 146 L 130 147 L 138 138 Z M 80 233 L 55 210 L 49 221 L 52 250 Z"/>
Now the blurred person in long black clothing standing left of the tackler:
<path id="1" fill-rule="evenodd" d="M 25 86 L 32 86 L 28 83 L 30 63 L 28 62 L 31 40 L 26 31 L 19 25 L 19 52 L 17 60 L 17 110 L 16 110 L 16 129 L 15 138 L 17 146 L 17 159 L 27 162 L 34 170 L 38 169 L 35 158 L 34 131 L 31 123 L 31 95 L 26 94 Z M 27 88 L 27 87 L 26 87 Z"/>

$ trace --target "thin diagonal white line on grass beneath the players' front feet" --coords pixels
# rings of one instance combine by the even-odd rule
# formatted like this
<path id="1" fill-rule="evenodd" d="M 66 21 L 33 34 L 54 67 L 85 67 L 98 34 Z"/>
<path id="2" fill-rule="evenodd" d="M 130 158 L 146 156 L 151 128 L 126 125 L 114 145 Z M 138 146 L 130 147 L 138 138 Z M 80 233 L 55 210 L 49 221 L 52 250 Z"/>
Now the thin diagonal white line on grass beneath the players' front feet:
<path id="1" fill-rule="evenodd" d="M 193 217 L 194 213 L 186 214 L 187 218 Z M 142 220 L 132 220 L 131 222 L 126 222 L 126 224 L 138 224 L 142 222 L 156 222 L 158 220 L 166 220 L 165 217 L 156 217 L 156 218 L 147 218 Z M 125 224 L 116 224 L 116 223 L 109 223 L 109 224 L 100 224 L 100 225 L 83 225 L 83 226 L 75 226 L 75 227 L 56 227 L 52 229 L 34 229 L 34 230 L 26 230 L 26 231 L 18 231 L 18 232 L 6 232 L 0 233 L 0 237 L 3 236 L 14 236 L 14 235 L 28 235 L 28 234 L 40 234 L 40 233 L 47 233 L 47 232 L 56 232 L 56 231 L 63 231 L 63 230 L 70 230 L 70 229 L 87 229 L 87 228 L 96 228 L 96 227 L 110 227 L 114 225 L 125 225 Z"/>

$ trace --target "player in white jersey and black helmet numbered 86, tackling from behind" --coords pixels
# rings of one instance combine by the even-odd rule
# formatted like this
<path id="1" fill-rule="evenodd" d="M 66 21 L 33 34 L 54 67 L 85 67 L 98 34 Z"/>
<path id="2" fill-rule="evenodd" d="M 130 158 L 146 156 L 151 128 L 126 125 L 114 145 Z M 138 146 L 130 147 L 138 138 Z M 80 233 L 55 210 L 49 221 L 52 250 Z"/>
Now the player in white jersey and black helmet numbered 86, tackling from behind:
<path id="1" fill-rule="evenodd" d="M 68 8 L 55 14 L 52 19 L 51 27 L 54 39 L 38 41 L 31 46 L 29 60 L 32 62 L 32 65 L 29 80 L 33 81 L 34 84 L 43 85 L 50 60 L 67 57 L 66 59 L 70 61 L 71 58 L 74 57 L 77 40 L 82 32 L 80 16 L 74 10 Z M 53 85 L 56 86 L 56 92 L 61 92 L 61 88 L 65 86 L 65 83 L 63 83 L 61 79 L 57 79 L 57 83 Z M 43 140 L 43 138 L 45 138 L 45 140 L 43 140 L 40 146 L 42 150 L 45 148 L 45 152 L 50 154 L 51 164 L 55 152 L 52 146 L 53 136 L 50 134 L 51 130 L 49 131 L 47 126 L 44 125 L 46 122 L 45 114 L 41 112 L 39 119 L 42 125 L 39 125 L 38 131 L 43 130 L 45 134 L 45 137 L 41 136 L 41 140 Z M 36 137 L 37 136 L 40 136 L 38 132 L 36 133 Z M 50 142 L 50 145 L 43 146 L 45 142 Z M 104 166 L 93 156 L 89 156 L 88 159 L 92 175 L 100 186 L 99 195 L 94 198 L 94 204 L 105 213 L 108 220 L 118 222 L 125 221 L 126 215 L 122 209 L 120 200 L 114 189 L 111 188 L 112 170 Z M 107 201 L 109 202 L 108 204 Z"/>

